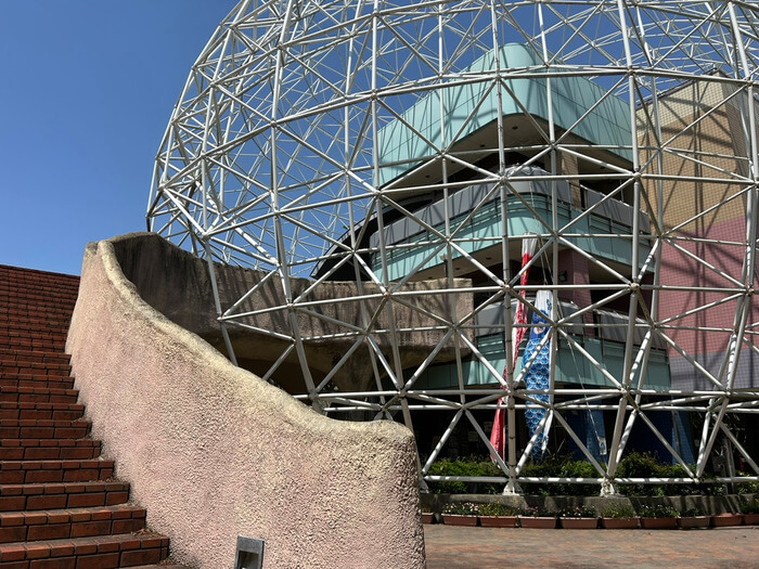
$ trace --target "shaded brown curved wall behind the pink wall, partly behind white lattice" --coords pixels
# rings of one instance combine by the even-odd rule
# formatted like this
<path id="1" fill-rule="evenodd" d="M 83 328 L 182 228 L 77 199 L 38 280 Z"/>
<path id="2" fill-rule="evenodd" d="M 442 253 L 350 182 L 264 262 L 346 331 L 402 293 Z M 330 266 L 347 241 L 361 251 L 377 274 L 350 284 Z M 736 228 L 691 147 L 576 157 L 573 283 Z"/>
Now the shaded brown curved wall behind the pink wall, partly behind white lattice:
<path id="1" fill-rule="evenodd" d="M 140 296 L 153 308 L 162 312 L 172 322 L 183 328 L 190 329 L 203 337 L 209 344 L 222 352 L 227 352 L 221 339 L 219 323 L 214 305 L 211 282 L 208 277 L 208 267 L 205 261 L 180 249 L 155 233 L 136 233 L 128 236 L 112 240 L 116 258 L 123 268 L 125 276 L 137 287 Z M 216 266 L 219 297 L 223 309 L 235 303 L 243 295 L 254 286 L 258 286 L 256 294 L 250 295 L 239 307 L 239 313 L 248 315 L 239 320 L 252 328 L 243 329 L 230 326 L 229 332 L 234 345 L 234 352 L 241 366 L 254 372 L 265 374 L 269 366 L 278 359 L 290 342 L 283 341 L 271 335 L 255 332 L 274 331 L 284 335 L 291 332 L 290 313 L 282 284 L 279 279 L 265 280 L 266 273 L 241 267 Z M 472 312 L 474 305 L 471 292 L 456 294 L 422 294 L 407 297 L 406 303 L 395 302 L 393 312 L 389 305 L 381 305 L 380 289 L 372 283 L 363 284 L 363 299 L 357 300 L 358 295 L 353 282 L 324 282 L 312 287 L 313 282 L 306 279 L 292 279 L 293 294 L 298 297 L 304 290 L 310 288 L 308 299 L 311 301 L 324 301 L 318 311 L 332 319 L 334 322 L 347 323 L 347 326 L 337 326 L 327 320 L 314 318 L 298 311 L 298 327 L 304 337 L 304 350 L 307 355 L 311 374 L 320 382 L 348 351 L 355 337 L 342 334 L 350 332 L 355 327 L 362 327 L 362 308 L 369 314 L 377 315 L 373 326 L 372 338 L 387 358 L 391 357 L 389 333 L 387 331 L 390 321 L 396 326 L 407 332 L 399 333 L 399 342 L 403 346 L 401 359 L 403 367 L 411 367 L 422 363 L 429 351 L 440 342 L 445 332 L 436 329 L 439 322 L 426 314 L 455 313 L 461 321 Z M 468 279 L 455 279 L 456 287 L 468 287 Z M 432 292 L 448 287 L 446 280 L 429 280 L 423 282 L 407 283 L 403 292 Z M 366 299 L 365 296 L 376 295 L 377 298 Z M 334 300 L 339 300 L 335 302 Z M 271 311 L 273 307 L 278 310 Z M 262 313 L 260 312 L 262 311 Z M 472 331 L 463 331 L 474 341 Z M 323 338 L 327 336 L 327 338 Z M 466 355 L 468 350 L 460 346 L 459 350 Z M 436 361 L 443 362 L 455 357 L 453 340 L 450 340 L 438 353 Z M 298 367 L 298 357 L 295 350 L 285 360 L 292 368 Z M 288 385 L 287 376 L 298 375 L 286 371 L 283 374 L 274 374 L 275 379 L 283 388 L 291 392 L 305 392 L 305 385 Z M 285 376 L 285 377 L 283 377 Z M 285 379 L 283 382 L 283 379 Z M 340 391 L 365 391 L 371 389 L 374 383 L 372 361 L 365 350 L 357 350 L 348 361 L 337 371 L 332 379 Z"/>

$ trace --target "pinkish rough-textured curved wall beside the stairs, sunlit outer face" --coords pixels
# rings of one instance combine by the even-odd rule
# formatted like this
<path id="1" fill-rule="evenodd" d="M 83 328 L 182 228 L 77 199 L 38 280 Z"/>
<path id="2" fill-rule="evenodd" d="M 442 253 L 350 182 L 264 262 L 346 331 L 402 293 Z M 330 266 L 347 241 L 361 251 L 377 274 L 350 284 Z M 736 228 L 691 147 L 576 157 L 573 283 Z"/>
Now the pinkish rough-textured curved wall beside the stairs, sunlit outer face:
<path id="1" fill-rule="evenodd" d="M 178 561 L 231 568 L 424 566 L 415 447 L 389 422 L 325 418 L 152 308 L 114 245 L 90 244 L 67 351 L 93 436 Z"/>

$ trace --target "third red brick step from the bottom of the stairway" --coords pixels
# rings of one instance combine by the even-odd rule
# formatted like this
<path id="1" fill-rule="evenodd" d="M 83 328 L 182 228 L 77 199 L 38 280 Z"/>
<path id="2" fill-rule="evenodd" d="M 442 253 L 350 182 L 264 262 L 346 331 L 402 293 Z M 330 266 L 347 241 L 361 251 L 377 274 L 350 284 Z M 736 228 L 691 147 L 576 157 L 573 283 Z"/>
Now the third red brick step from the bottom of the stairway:
<path id="1" fill-rule="evenodd" d="M 128 482 L 0 484 L 0 512 L 115 506 L 128 500 Z"/>

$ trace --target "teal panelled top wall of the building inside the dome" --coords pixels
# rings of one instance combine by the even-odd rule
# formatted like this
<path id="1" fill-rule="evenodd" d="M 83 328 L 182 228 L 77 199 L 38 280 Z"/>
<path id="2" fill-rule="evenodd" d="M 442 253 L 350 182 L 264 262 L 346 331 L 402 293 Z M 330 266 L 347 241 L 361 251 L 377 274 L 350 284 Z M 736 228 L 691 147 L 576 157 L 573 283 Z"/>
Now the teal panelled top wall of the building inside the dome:
<path id="1" fill-rule="evenodd" d="M 533 75 L 545 72 L 539 55 L 524 44 L 503 46 L 499 57 L 501 66 L 513 74 L 520 69 L 529 69 Z M 471 80 L 477 72 L 494 68 L 493 54 L 486 54 L 463 72 L 462 80 Z M 627 146 L 612 148 L 610 152 L 628 161 L 632 160 L 632 153 L 628 150 L 632 143 L 628 104 L 584 77 L 509 79 L 502 96 L 503 115 L 524 115 L 524 107 L 530 115 L 548 120 L 549 81 L 553 115 L 559 127 L 569 129 L 601 101 L 597 107 L 575 126 L 575 134 L 596 145 Z M 378 131 L 376 141 L 381 164 L 380 185 L 436 156 L 443 140 L 448 143 L 454 139 L 462 140 L 496 120 L 498 94 L 494 85 L 491 78 L 484 76 L 478 82 L 440 87 L 406 111 L 402 114 L 403 120 L 393 120 L 384 126 Z M 440 121 L 441 113 L 446 117 L 445 132 Z"/>

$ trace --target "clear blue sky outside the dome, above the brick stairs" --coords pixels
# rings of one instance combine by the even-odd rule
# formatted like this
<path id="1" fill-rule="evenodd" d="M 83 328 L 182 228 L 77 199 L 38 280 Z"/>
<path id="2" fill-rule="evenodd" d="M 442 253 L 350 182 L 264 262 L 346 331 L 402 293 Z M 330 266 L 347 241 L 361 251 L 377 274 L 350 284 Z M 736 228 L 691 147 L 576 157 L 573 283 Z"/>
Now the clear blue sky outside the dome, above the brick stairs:
<path id="1" fill-rule="evenodd" d="M 0 0 L 0 264 L 144 231 L 153 159 L 235 0 Z"/>

